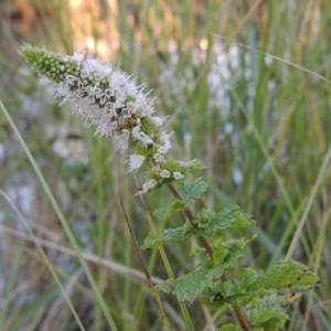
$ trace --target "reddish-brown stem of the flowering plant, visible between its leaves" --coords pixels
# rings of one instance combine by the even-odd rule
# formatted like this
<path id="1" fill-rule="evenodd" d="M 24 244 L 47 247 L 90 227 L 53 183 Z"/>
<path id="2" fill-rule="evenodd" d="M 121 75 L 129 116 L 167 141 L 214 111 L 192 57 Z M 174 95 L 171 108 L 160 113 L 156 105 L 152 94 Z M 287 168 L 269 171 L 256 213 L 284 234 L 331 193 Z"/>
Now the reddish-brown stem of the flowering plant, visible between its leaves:
<path id="1" fill-rule="evenodd" d="M 172 192 L 172 194 L 174 195 L 175 199 L 180 200 L 180 201 L 183 201 L 183 197 L 181 195 L 181 193 L 179 192 L 179 190 L 172 184 L 172 183 L 169 183 L 168 184 L 170 191 Z M 185 214 L 190 221 L 190 223 L 192 224 L 193 228 L 196 228 L 196 224 L 194 224 L 194 220 L 195 220 L 195 214 L 193 212 L 193 210 L 191 207 L 188 207 L 185 210 Z M 199 235 L 197 235 L 199 236 Z M 204 246 L 206 253 L 209 254 L 209 256 L 211 257 L 211 259 L 213 259 L 213 248 L 211 247 L 211 245 L 209 244 L 209 242 L 199 236 L 202 245 Z M 224 279 L 227 280 L 227 277 L 226 275 L 223 275 Z M 235 312 L 235 316 L 241 324 L 241 327 L 246 331 L 246 330 L 252 330 L 252 325 L 249 324 L 249 321 L 246 317 L 246 313 L 242 307 L 242 305 L 239 302 L 233 302 L 231 303 L 234 312 Z"/>

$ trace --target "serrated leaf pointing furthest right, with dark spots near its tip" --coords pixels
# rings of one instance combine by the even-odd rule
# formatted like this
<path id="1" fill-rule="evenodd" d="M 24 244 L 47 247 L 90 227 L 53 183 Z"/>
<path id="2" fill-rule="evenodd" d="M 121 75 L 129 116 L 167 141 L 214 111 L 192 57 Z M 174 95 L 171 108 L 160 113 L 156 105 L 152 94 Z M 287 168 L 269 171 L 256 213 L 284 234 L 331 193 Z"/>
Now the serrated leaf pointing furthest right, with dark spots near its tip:
<path id="1" fill-rule="evenodd" d="M 277 260 L 256 284 L 259 288 L 277 289 L 279 292 L 296 292 L 313 288 L 320 278 L 296 260 Z"/>

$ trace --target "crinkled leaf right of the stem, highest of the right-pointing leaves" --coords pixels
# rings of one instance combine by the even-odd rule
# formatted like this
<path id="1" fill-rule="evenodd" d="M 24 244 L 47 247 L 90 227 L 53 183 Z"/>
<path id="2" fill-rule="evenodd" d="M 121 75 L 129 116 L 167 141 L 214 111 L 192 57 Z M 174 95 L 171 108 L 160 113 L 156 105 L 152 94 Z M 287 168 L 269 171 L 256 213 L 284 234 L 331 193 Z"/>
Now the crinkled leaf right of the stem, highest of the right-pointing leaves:
<path id="1" fill-rule="evenodd" d="M 232 227 L 256 226 L 256 222 L 252 220 L 252 215 L 242 212 L 237 205 L 232 206 L 229 210 L 224 209 L 217 214 L 209 210 L 202 210 L 196 214 L 194 223 L 197 225 L 197 234 L 206 239 L 217 231 Z"/>

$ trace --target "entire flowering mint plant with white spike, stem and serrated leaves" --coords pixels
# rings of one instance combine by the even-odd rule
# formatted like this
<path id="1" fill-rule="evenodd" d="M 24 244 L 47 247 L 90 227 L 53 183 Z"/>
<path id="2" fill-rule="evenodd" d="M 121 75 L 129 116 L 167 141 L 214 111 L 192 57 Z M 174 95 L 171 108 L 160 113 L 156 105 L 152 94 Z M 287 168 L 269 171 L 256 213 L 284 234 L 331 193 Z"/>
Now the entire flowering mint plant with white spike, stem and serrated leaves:
<path id="1" fill-rule="evenodd" d="M 233 232 L 233 236 L 236 228 L 255 227 L 256 222 L 237 205 L 223 211 L 194 212 L 193 206 L 207 184 L 202 178 L 194 180 L 192 173 L 205 167 L 196 160 L 183 162 L 169 157 L 171 134 L 161 130 L 167 118 L 153 116 L 153 99 L 143 92 L 145 86 L 138 86 L 119 67 L 78 52 L 70 56 L 24 45 L 20 54 L 33 71 L 54 83 L 57 96 L 70 104 L 74 114 L 96 126 L 96 134 L 110 139 L 120 152 L 130 150 L 125 161 L 127 172 L 147 169 L 146 181 L 136 195 L 168 185 L 173 202 L 157 209 L 157 218 L 167 221 L 174 213 L 185 214 L 184 224 L 149 233 L 141 250 L 195 236 L 200 246 L 193 247 L 191 254 L 199 256 L 200 264 L 189 274 L 169 278 L 152 290 L 172 293 L 186 306 L 194 300 L 212 310 L 227 306 L 238 325 L 226 324 L 217 330 L 282 328 L 289 319 L 290 303 L 302 291 L 319 285 L 319 277 L 292 259 L 275 261 L 264 275 L 242 267 L 245 246 L 258 236 L 227 239 L 227 234 Z M 160 300 L 157 301 L 162 313 Z M 166 317 L 163 320 L 171 330 Z"/>

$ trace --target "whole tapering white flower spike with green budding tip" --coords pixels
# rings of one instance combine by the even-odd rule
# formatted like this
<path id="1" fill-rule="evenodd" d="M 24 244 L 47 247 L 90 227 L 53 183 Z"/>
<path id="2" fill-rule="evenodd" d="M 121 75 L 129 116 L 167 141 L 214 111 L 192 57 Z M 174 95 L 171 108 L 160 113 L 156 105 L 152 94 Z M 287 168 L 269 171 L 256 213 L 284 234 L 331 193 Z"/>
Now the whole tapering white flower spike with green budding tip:
<path id="1" fill-rule="evenodd" d="M 132 77 L 79 52 L 68 56 L 24 45 L 20 54 L 36 73 L 54 83 L 73 113 L 96 126 L 96 134 L 111 139 L 115 149 L 136 149 L 126 161 L 128 172 L 149 161 L 152 168 L 138 194 L 184 178 L 182 163 L 166 158 L 171 149 L 170 135 L 160 131 L 166 118 L 152 116 L 153 99 Z"/>

